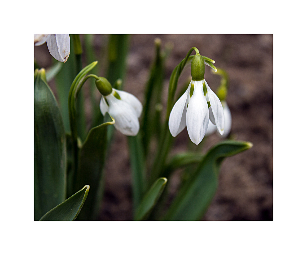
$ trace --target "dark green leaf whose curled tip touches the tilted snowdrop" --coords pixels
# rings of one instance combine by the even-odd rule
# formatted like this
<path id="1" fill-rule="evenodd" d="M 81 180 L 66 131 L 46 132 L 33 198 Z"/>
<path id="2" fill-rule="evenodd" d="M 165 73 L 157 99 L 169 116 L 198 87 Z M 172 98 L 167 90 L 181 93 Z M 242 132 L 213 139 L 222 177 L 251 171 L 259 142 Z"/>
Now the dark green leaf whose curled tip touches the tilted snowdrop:
<path id="1" fill-rule="evenodd" d="M 115 121 L 112 118 L 111 122 L 92 128 L 80 149 L 74 190 L 78 190 L 87 183 L 91 186 L 91 193 L 78 219 L 95 220 L 99 213 L 103 193 L 103 165 L 107 147 L 107 126 L 114 123 Z"/>

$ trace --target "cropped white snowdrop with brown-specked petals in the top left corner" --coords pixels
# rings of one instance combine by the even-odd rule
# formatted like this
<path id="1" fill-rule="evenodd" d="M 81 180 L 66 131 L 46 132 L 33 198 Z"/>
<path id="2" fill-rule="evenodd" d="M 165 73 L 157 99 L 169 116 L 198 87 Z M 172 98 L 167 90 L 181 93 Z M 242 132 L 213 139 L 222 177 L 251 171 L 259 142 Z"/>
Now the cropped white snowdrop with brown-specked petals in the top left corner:
<path id="1" fill-rule="evenodd" d="M 45 42 L 52 57 L 64 63 L 67 61 L 70 53 L 69 34 L 34 34 L 34 46 Z"/>

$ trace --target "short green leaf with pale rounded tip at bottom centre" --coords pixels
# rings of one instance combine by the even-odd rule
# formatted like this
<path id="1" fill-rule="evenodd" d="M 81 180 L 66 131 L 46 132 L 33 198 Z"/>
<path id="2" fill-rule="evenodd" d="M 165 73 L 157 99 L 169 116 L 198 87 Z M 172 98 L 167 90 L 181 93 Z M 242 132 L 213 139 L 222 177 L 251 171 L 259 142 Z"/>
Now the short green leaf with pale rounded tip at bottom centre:
<path id="1" fill-rule="evenodd" d="M 146 220 L 148 218 L 153 207 L 157 204 L 166 183 L 167 179 L 165 177 L 161 177 L 154 182 L 138 206 L 134 220 Z"/>

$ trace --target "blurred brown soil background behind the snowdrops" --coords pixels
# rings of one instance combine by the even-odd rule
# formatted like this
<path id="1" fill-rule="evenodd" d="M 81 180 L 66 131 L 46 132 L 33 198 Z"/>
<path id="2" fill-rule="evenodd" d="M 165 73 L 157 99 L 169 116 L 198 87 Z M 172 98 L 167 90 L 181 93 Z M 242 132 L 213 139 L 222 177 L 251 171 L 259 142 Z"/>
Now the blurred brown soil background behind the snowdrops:
<path id="1" fill-rule="evenodd" d="M 229 74 L 227 103 L 232 115 L 231 137 L 254 145 L 250 150 L 223 161 L 218 191 L 203 220 L 273 220 L 273 35 L 130 35 L 123 89 L 141 102 L 144 102 L 144 89 L 155 56 L 154 40 L 157 37 L 161 39 L 162 49 L 165 45 L 173 47 L 165 62 L 162 112 L 165 114 L 168 82 L 173 69 L 190 48 L 196 47 L 201 55 L 215 60 L 215 66 Z M 108 38 L 108 35 L 91 36 L 100 76 L 106 75 Z M 80 39 L 85 67 L 90 63 L 84 47 L 87 37 L 80 35 Z M 54 61 L 47 44 L 34 47 L 34 57 L 44 68 L 50 67 Z M 177 91 L 189 76 L 190 68 L 186 68 Z M 212 74 L 206 66 L 205 79 L 216 92 L 220 76 Z M 57 97 L 55 80 L 49 85 Z M 85 85 L 83 90 L 85 113 L 90 116 L 89 86 Z M 98 91 L 96 100 L 99 104 Z M 92 120 L 87 117 L 86 122 L 89 129 Z M 201 150 L 205 153 L 219 140 L 217 134 L 209 136 Z M 184 152 L 191 146 L 185 128 L 177 135 L 171 154 Z M 169 180 L 169 202 L 180 184 L 182 170 L 176 171 Z M 104 174 L 105 193 L 99 220 L 132 220 L 128 145 L 126 136 L 119 131 L 115 131 Z"/>

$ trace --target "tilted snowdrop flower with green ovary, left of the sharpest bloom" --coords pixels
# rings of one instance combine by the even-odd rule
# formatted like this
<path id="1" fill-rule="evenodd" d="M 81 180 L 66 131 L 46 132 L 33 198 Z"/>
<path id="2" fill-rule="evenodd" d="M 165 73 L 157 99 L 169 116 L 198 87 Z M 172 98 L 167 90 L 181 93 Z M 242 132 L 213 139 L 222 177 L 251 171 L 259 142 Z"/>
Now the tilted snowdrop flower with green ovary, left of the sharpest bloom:
<path id="1" fill-rule="evenodd" d="M 115 120 L 115 128 L 124 135 L 135 136 L 138 134 L 143 106 L 132 94 L 113 89 L 106 78 L 99 77 L 96 86 L 103 95 L 100 100 L 100 111 L 103 116 L 108 112 Z"/>

